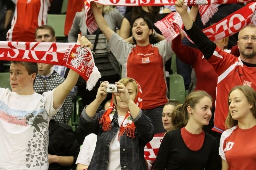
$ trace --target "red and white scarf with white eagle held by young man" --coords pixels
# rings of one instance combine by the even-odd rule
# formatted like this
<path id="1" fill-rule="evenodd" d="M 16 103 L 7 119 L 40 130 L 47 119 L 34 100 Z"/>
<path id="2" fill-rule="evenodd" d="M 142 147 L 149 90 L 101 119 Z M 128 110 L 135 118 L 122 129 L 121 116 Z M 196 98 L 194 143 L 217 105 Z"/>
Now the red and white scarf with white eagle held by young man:
<path id="1" fill-rule="evenodd" d="M 92 90 L 99 78 L 92 52 L 76 43 L 0 41 L 0 60 L 46 63 L 75 70 Z"/>

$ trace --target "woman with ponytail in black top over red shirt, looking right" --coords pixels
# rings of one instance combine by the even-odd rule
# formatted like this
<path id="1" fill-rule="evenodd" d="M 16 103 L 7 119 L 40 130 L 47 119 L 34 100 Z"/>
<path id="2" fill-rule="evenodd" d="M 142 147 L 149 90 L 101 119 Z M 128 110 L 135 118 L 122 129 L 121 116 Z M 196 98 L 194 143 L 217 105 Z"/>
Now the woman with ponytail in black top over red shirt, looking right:
<path id="1" fill-rule="evenodd" d="M 202 129 L 212 117 L 211 109 L 212 97 L 204 91 L 189 93 L 184 104 L 175 107 L 173 128 L 164 135 L 154 170 L 217 169 L 217 141 Z"/>

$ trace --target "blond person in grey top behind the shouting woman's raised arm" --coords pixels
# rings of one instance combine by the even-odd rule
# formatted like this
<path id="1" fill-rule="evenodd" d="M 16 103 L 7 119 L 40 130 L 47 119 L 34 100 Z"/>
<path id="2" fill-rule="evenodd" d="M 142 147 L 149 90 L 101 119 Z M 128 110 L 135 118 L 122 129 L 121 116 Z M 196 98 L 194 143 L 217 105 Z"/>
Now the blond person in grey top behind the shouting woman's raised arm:
<path id="1" fill-rule="evenodd" d="M 120 29 L 123 21 L 123 15 L 110 5 L 102 5 L 96 3 L 97 9 L 104 16 L 104 19 L 108 23 L 111 30 L 116 31 Z M 109 52 L 108 46 L 106 46 L 106 37 L 97 29 L 92 34 L 89 33 L 85 23 L 85 11 L 77 12 L 74 18 L 72 27 L 68 33 L 68 42 L 76 42 L 77 34 L 81 33 L 93 44 L 93 59 L 100 71 L 101 78 L 97 82 L 96 86 L 100 86 L 101 80 L 108 80 L 110 83 L 114 83 L 120 79 L 120 68 L 116 58 Z M 97 94 L 97 88 L 93 88 L 91 91 L 84 90 L 86 88 L 86 82 L 78 86 L 78 93 L 82 97 L 83 106 L 89 105 Z M 111 99 L 111 95 L 108 95 L 103 104 Z M 103 106 L 102 106 L 103 107 Z"/>

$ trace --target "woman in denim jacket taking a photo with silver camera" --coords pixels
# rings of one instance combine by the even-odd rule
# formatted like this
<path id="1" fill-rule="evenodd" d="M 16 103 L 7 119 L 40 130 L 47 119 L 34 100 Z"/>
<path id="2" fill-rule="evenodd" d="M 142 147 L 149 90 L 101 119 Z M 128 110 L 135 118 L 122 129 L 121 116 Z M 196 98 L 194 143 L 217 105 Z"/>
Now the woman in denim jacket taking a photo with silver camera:
<path id="1" fill-rule="evenodd" d="M 107 96 L 107 83 L 100 84 L 96 99 L 79 118 L 82 129 L 97 135 L 88 169 L 147 169 L 144 146 L 153 138 L 154 126 L 140 109 L 140 85 L 132 78 L 119 80 L 108 110 L 96 113 Z"/>

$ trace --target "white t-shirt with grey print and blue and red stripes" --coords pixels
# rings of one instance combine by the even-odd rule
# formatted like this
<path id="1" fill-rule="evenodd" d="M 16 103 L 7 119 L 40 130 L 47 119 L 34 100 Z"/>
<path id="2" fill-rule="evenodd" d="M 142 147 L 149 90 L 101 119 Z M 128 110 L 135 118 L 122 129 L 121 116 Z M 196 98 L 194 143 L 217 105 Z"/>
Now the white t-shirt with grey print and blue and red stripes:
<path id="1" fill-rule="evenodd" d="M 60 109 L 52 106 L 53 91 L 19 95 L 0 88 L 0 169 L 48 169 L 48 123 Z"/>

